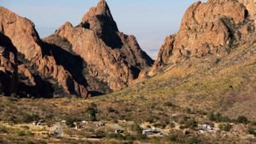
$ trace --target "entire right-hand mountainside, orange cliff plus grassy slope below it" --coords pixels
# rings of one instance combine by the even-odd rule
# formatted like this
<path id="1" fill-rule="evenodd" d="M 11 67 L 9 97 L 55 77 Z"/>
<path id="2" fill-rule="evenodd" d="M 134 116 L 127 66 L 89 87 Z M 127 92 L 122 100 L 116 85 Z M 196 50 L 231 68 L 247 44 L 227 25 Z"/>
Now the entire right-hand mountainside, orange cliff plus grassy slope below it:
<path id="1" fill-rule="evenodd" d="M 129 95 L 157 97 L 232 118 L 256 118 L 255 6 L 238 0 L 194 3 Z"/>

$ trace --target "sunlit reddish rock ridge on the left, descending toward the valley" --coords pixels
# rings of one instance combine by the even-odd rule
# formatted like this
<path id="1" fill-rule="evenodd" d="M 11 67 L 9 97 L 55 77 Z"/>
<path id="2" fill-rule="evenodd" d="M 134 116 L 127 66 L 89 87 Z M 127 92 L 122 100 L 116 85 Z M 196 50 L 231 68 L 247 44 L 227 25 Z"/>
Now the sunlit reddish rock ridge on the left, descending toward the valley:
<path id="1" fill-rule="evenodd" d="M 34 67 L 43 80 L 55 79 L 67 94 L 88 96 L 86 85 L 79 84 L 65 66 L 56 62 L 30 20 L 0 7 L 0 32 L 10 39 L 18 53 L 29 61 L 28 67 Z"/>

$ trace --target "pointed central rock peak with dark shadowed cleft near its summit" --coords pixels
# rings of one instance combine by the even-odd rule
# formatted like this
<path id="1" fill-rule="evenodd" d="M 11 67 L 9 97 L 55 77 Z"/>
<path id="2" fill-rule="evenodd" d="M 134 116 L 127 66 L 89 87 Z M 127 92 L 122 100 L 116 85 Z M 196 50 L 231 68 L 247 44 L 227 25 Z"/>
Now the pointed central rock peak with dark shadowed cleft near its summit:
<path id="1" fill-rule="evenodd" d="M 84 15 L 79 26 L 67 22 L 55 35 L 66 38 L 86 62 L 90 75 L 113 90 L 125 88 L 153 64 L 134 36 L 119 32 L 104 0 Z"/>

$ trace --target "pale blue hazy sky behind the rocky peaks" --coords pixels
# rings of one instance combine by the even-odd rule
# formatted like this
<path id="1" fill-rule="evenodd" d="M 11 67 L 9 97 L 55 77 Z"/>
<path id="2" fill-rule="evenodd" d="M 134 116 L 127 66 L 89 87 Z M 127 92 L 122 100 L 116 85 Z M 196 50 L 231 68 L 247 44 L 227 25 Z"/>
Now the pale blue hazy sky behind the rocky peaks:
<path id="1" fill-rule="evenodd" d="M 66 21 L 76 26 L 99 0 L 0 0 L 0 5 L 32 20 L 40 37 Z M 119 31 L 133 34 L 153 58 L 165 37 L 177 32 L 185 10 L 196 0 L 107 0 Z"/>

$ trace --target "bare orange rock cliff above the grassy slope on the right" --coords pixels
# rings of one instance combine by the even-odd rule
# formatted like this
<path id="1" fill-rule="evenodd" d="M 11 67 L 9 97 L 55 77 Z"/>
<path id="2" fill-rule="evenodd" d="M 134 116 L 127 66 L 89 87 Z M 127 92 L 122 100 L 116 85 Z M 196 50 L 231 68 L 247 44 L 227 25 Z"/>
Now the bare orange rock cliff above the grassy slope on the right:
<path id="1" fill-rule="evenodd" d="M 253 0 L 194 3 L 184 14 L 177 34 L 166 37 L 154 67 L 189 57 L 229 53 L 232 45 L 241 39 L 242 27 L 255 20 L 255 9 Z"/>

